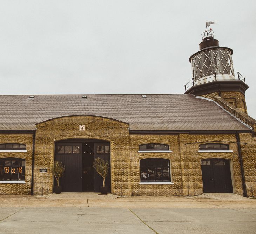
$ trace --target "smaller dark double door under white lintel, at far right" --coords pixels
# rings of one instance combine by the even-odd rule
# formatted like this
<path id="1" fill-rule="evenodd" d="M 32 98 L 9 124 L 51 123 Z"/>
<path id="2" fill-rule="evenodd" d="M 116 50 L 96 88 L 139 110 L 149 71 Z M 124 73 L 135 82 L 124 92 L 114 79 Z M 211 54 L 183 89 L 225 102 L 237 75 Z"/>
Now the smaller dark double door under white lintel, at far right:
<path id="1" fill-rule="evenodd" d="M 204 193 L 233 193 L 229 160 L 205 159 L 201 168 Z"/>

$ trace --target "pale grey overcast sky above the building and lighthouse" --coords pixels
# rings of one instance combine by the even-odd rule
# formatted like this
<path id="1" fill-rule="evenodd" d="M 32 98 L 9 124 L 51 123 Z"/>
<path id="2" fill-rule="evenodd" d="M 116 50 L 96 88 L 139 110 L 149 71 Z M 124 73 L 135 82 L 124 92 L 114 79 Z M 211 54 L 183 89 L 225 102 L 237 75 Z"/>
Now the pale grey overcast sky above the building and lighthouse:
<path id="1" fill-rule="evenodd" d="M 0 0 L 0 94 L 181 94 L 205 21 L 256 118 L 255 1 Z"/>

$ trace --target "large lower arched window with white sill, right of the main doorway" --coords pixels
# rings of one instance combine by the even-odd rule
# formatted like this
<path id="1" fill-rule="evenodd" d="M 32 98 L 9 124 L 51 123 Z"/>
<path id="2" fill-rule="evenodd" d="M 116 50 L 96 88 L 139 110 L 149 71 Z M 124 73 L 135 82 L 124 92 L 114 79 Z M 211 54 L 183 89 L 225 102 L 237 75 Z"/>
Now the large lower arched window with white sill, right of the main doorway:
<path id="1" fill-rule="evenodd" d="M 170 182 L 170 160 L 146 158 L 140 160 L 141 182 Z"/>

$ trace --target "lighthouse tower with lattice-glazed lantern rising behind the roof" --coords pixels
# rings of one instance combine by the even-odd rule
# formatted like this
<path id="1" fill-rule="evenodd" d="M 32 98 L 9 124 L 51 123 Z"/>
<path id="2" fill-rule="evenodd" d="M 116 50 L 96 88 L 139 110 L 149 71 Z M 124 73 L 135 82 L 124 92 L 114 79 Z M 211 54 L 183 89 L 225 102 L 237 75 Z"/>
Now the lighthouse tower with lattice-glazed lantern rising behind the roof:
<path id="1" fill-rule="evenodd" d="M 245 91 L 249 86 L 245 77 L 234 71 L 232 54 L 233 50 L 220 46 L 213 30 L 206 27 L 199 51 L 189 58 L 192 79 L 185 85 L 185 93 L 210 99 L 219 96 L 247 113 Z"/>

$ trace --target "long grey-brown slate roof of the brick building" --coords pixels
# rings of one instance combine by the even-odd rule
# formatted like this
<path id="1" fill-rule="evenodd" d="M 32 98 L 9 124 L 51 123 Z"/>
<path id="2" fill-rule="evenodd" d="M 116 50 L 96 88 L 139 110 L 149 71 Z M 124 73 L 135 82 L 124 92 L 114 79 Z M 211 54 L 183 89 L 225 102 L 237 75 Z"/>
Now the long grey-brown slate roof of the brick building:
<path id="1" fill-rule="evenodd" d="M 249 130 L 214 102 L 190 94 L 0 95 L 0 129 L 31 130 L 69 115 L 95 115 L 129 123 L 130 130 Z"/>

